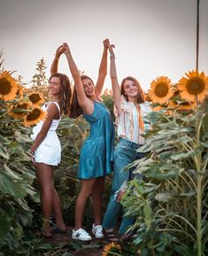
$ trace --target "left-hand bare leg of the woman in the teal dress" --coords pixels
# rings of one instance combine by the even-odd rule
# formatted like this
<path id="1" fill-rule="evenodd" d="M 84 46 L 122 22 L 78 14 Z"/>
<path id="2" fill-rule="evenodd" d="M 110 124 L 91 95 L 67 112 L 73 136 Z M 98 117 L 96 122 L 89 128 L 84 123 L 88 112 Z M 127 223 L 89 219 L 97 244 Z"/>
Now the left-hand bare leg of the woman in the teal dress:
<path id="1" fill-rule="evenodd" d="M 85 210 L 86 203 L 92 194 L 93 187 L 96 179 L 81 180 L 81 191 L 76 200 L 75 206 L 75 230 L 82 227 L 82 218 Z"/>

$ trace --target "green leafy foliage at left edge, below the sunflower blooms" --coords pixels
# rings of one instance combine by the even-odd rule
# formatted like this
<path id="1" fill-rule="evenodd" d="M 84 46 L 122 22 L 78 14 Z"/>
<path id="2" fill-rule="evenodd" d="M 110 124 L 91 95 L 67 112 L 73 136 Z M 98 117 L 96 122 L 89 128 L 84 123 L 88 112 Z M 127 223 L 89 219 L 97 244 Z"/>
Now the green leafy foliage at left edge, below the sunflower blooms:
<path id="1" fill-rule="evenodd" d="M 27 198 L 36 200 L 34 167 L 27 154 L 29 130 L 8 114 L 16 101 L 0 99 L 0 251 L 4 255 L 17 255 L 23 231 L 33 218 Z"/>

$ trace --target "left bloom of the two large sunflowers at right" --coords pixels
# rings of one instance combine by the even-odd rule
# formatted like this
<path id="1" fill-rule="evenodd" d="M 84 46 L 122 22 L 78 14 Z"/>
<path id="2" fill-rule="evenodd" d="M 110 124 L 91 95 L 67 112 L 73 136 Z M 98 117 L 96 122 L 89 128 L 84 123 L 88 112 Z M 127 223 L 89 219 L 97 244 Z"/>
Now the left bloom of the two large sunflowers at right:
<path id="1" fill-rule="evenodd" d="M 153 103 L 166 104 L 173 96 L 171 80 L 166 76 L 158 76 L 156 80 L 151 81 L 148 95 Z"/>

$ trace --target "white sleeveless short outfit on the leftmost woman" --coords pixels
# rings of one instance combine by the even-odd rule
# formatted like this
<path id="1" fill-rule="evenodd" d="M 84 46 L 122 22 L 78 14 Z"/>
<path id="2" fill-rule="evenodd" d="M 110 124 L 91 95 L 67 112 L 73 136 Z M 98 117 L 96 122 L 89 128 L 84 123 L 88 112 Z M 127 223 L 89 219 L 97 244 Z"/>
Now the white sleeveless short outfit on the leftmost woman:
<path id="1" fill-rule="evenodd" d="M 46 111 L 50 104 L 55 104 L 58 107 L 58 112 L 60 115 L 60 108 L 57 102 L 49 102 L 42 106 L 42 110 Z M 42 143 L 38 146 L 35 151 L 35 162 L 44 163 L 50 166 L 58 166 L 61 160 L 61 145 L 56 133 L 58 128 L 59 121 L 61 120 L 52 120 L 49 131 L 45 136 Z M 33 134 L 31 138 L 35 140 L 36 136 L 42 128 L 43 121 L 40 121 L 35 128 L 33 128 Z"/>

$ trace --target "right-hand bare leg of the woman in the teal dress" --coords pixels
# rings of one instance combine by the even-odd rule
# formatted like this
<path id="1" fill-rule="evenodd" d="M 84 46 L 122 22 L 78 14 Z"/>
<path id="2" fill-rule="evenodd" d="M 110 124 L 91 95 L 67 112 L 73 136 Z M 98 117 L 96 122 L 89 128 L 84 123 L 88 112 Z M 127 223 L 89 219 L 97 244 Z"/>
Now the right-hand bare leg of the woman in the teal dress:
<path id="1" fill-rule="evenodd" d="M 104 177 L 96 178 L 96 183 L 92 191 L 92 209 L 95 225 L 101 224 L 102 201 L 104 194 Z"/>

